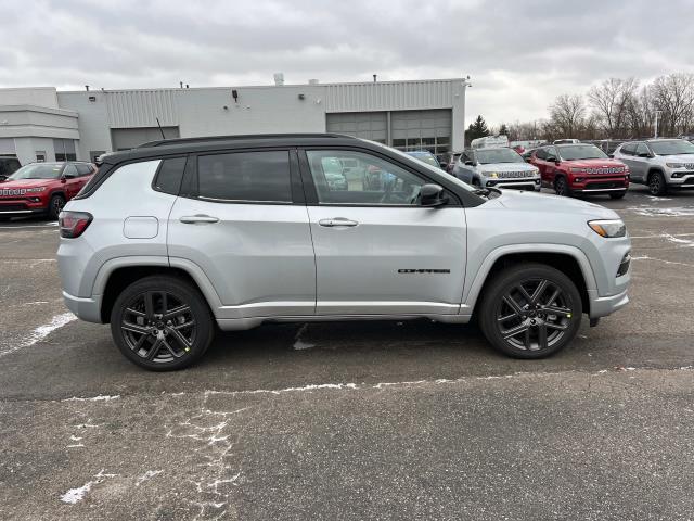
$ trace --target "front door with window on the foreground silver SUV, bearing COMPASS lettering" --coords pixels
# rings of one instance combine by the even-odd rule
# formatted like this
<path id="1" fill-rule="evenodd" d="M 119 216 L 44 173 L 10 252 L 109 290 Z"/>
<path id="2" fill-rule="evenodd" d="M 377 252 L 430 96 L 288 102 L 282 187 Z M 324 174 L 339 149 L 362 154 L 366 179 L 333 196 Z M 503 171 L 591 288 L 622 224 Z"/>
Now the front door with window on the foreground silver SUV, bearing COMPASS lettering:
<path id="1" fill-rule="evenodd" d="M 377 183 L 346 171 L 339 188 L 325 177 L 339 160 L 359 164 Z M 465 272 L 465 214 L 454 198 L 419 204 L 421 174 L 374 153 L 307 150 L 300 155 L 316 250 L 318 315 L 451 315 Z"/>

